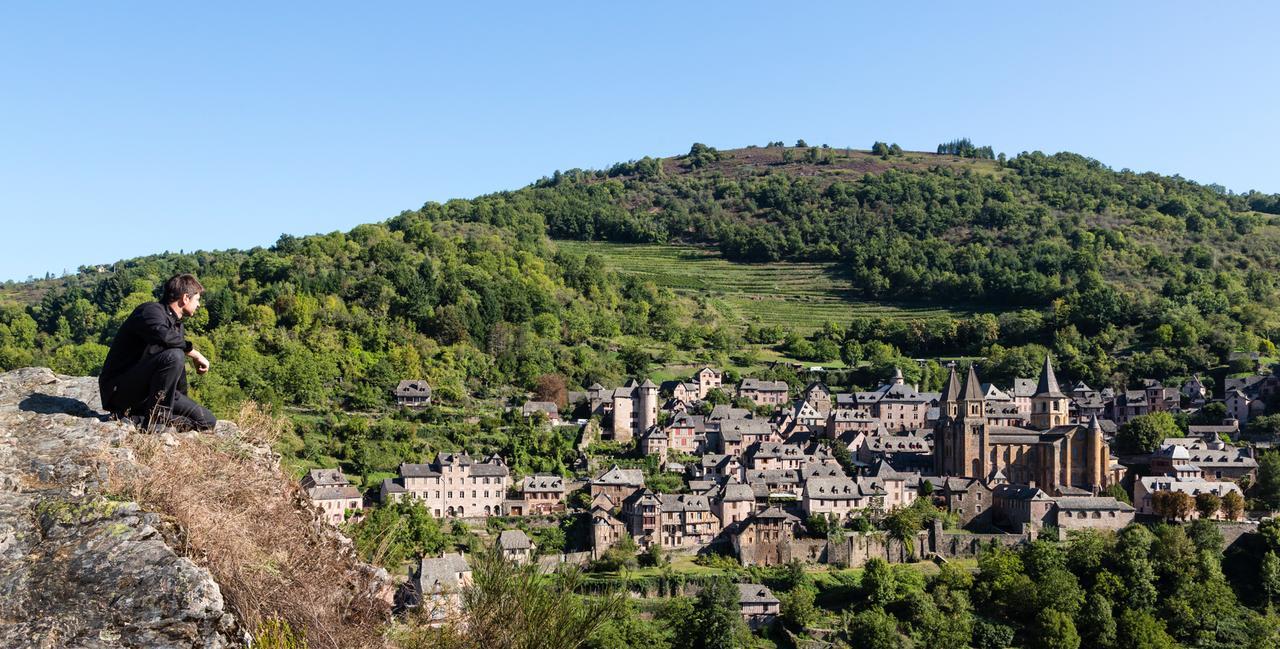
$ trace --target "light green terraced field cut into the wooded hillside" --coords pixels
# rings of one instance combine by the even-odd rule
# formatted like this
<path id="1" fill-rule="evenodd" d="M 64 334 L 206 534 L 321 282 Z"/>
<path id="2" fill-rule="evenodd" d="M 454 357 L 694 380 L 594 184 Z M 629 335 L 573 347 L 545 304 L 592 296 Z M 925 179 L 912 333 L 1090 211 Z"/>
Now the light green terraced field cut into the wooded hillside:
<path id="1" fill-rule="evenodd" d="M 618 273 L 640 275 L 660 287 L 708 297 L 742 324 L 756 321 L 812 332 L 826 321 L 844 324 L 855 315 L 927 317 L 966 315 L 964 308 L 869 302 L 854 297 L 852 283 L 835 264 L 739 264 L 716 251 L 691 246 L 557 241 L 581 253 L 594 252 Z"/>

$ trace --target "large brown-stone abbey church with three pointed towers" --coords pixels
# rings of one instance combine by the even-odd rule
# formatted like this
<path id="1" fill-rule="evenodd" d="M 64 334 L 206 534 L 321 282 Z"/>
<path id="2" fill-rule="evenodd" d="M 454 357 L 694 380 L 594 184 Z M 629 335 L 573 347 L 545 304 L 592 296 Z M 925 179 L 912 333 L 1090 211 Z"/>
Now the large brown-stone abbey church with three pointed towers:
<path id="1" fill-rule="evenodd" d="M 1101 492 L 1114 480 L 1111 449 L 1096 416 L 1068 422 L 1069 405 L 1046 357 L 1032 396 L 1030 428 L 995 425 L 987 420 L 978 373 L 970 365 L 961 385 L 952 367 L 933 434 L 938 475 L 1034 485 L 1056 495 Z"/>

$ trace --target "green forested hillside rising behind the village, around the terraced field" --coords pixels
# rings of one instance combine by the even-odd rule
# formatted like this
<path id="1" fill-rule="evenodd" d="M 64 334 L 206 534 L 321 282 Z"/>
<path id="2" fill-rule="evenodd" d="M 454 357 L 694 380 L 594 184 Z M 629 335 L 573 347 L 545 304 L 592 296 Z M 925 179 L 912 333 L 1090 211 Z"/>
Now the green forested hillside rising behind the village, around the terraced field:
<path id="1" fill-rule="evenodd" d="M 695 145 L 348 233 L 10 283 L 0 367 L 97 371 L 119 323 L 175 271 L 209 288 L 189 332 L 218 371 L 196 389 L 223 411 L 244 397 L 376 408 L 402 378 L 458 403 L 545 375 L 572 388 L 675 361 L 750 369 L 762 351 L 869 371 L 902 355 L 982 355 L 1005 379 L 1030 375 L 1047 347 L 1065 375 L 1116 384 L 1215 367 L 1233 349 L 1275 353 L 1276 196 L 959 145 L 945 147 L 960 155 Z M 855 317 L 805 338 L 742 326 L 696 292 L 620 275 L 549 237 L 824 262 L 861 301 L 977 315 Z"/>

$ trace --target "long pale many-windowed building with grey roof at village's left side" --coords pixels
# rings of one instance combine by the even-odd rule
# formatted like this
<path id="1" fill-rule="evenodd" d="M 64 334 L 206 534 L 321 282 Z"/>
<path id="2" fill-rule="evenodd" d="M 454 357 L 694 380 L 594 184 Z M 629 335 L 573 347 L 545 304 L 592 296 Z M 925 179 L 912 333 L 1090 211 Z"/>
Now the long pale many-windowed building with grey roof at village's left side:
<path id="1" fill-rule="evenodd" d="M 402 463 L 398 477 L 383 480 L 383 502 L 410 497 L 435 517 L 502 515 L 511 472 L 498 456 L 476 461 L 467 453 L 440 453 L 428 465 Z"/>

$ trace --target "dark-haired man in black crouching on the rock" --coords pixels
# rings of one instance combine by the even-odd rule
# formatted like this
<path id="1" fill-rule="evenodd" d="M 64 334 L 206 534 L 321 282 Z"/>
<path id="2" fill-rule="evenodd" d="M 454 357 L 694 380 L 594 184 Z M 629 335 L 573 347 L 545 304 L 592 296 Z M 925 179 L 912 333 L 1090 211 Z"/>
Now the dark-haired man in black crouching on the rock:
<path id="1" fill-rule="evenodd" d="M 146 428 L 214 428 L 214 413 L 187 397 L 183 358 L 191 357 L 197 373 L 209 371 L 209 360 L 191 346 L 182 328 L 182 319 L 200 308 L 204 292 L 195 275 L 175 275 L 165 282 L 161 302 L 133 310 L 115 334 L 97 379 L 104 408 Z"/>

